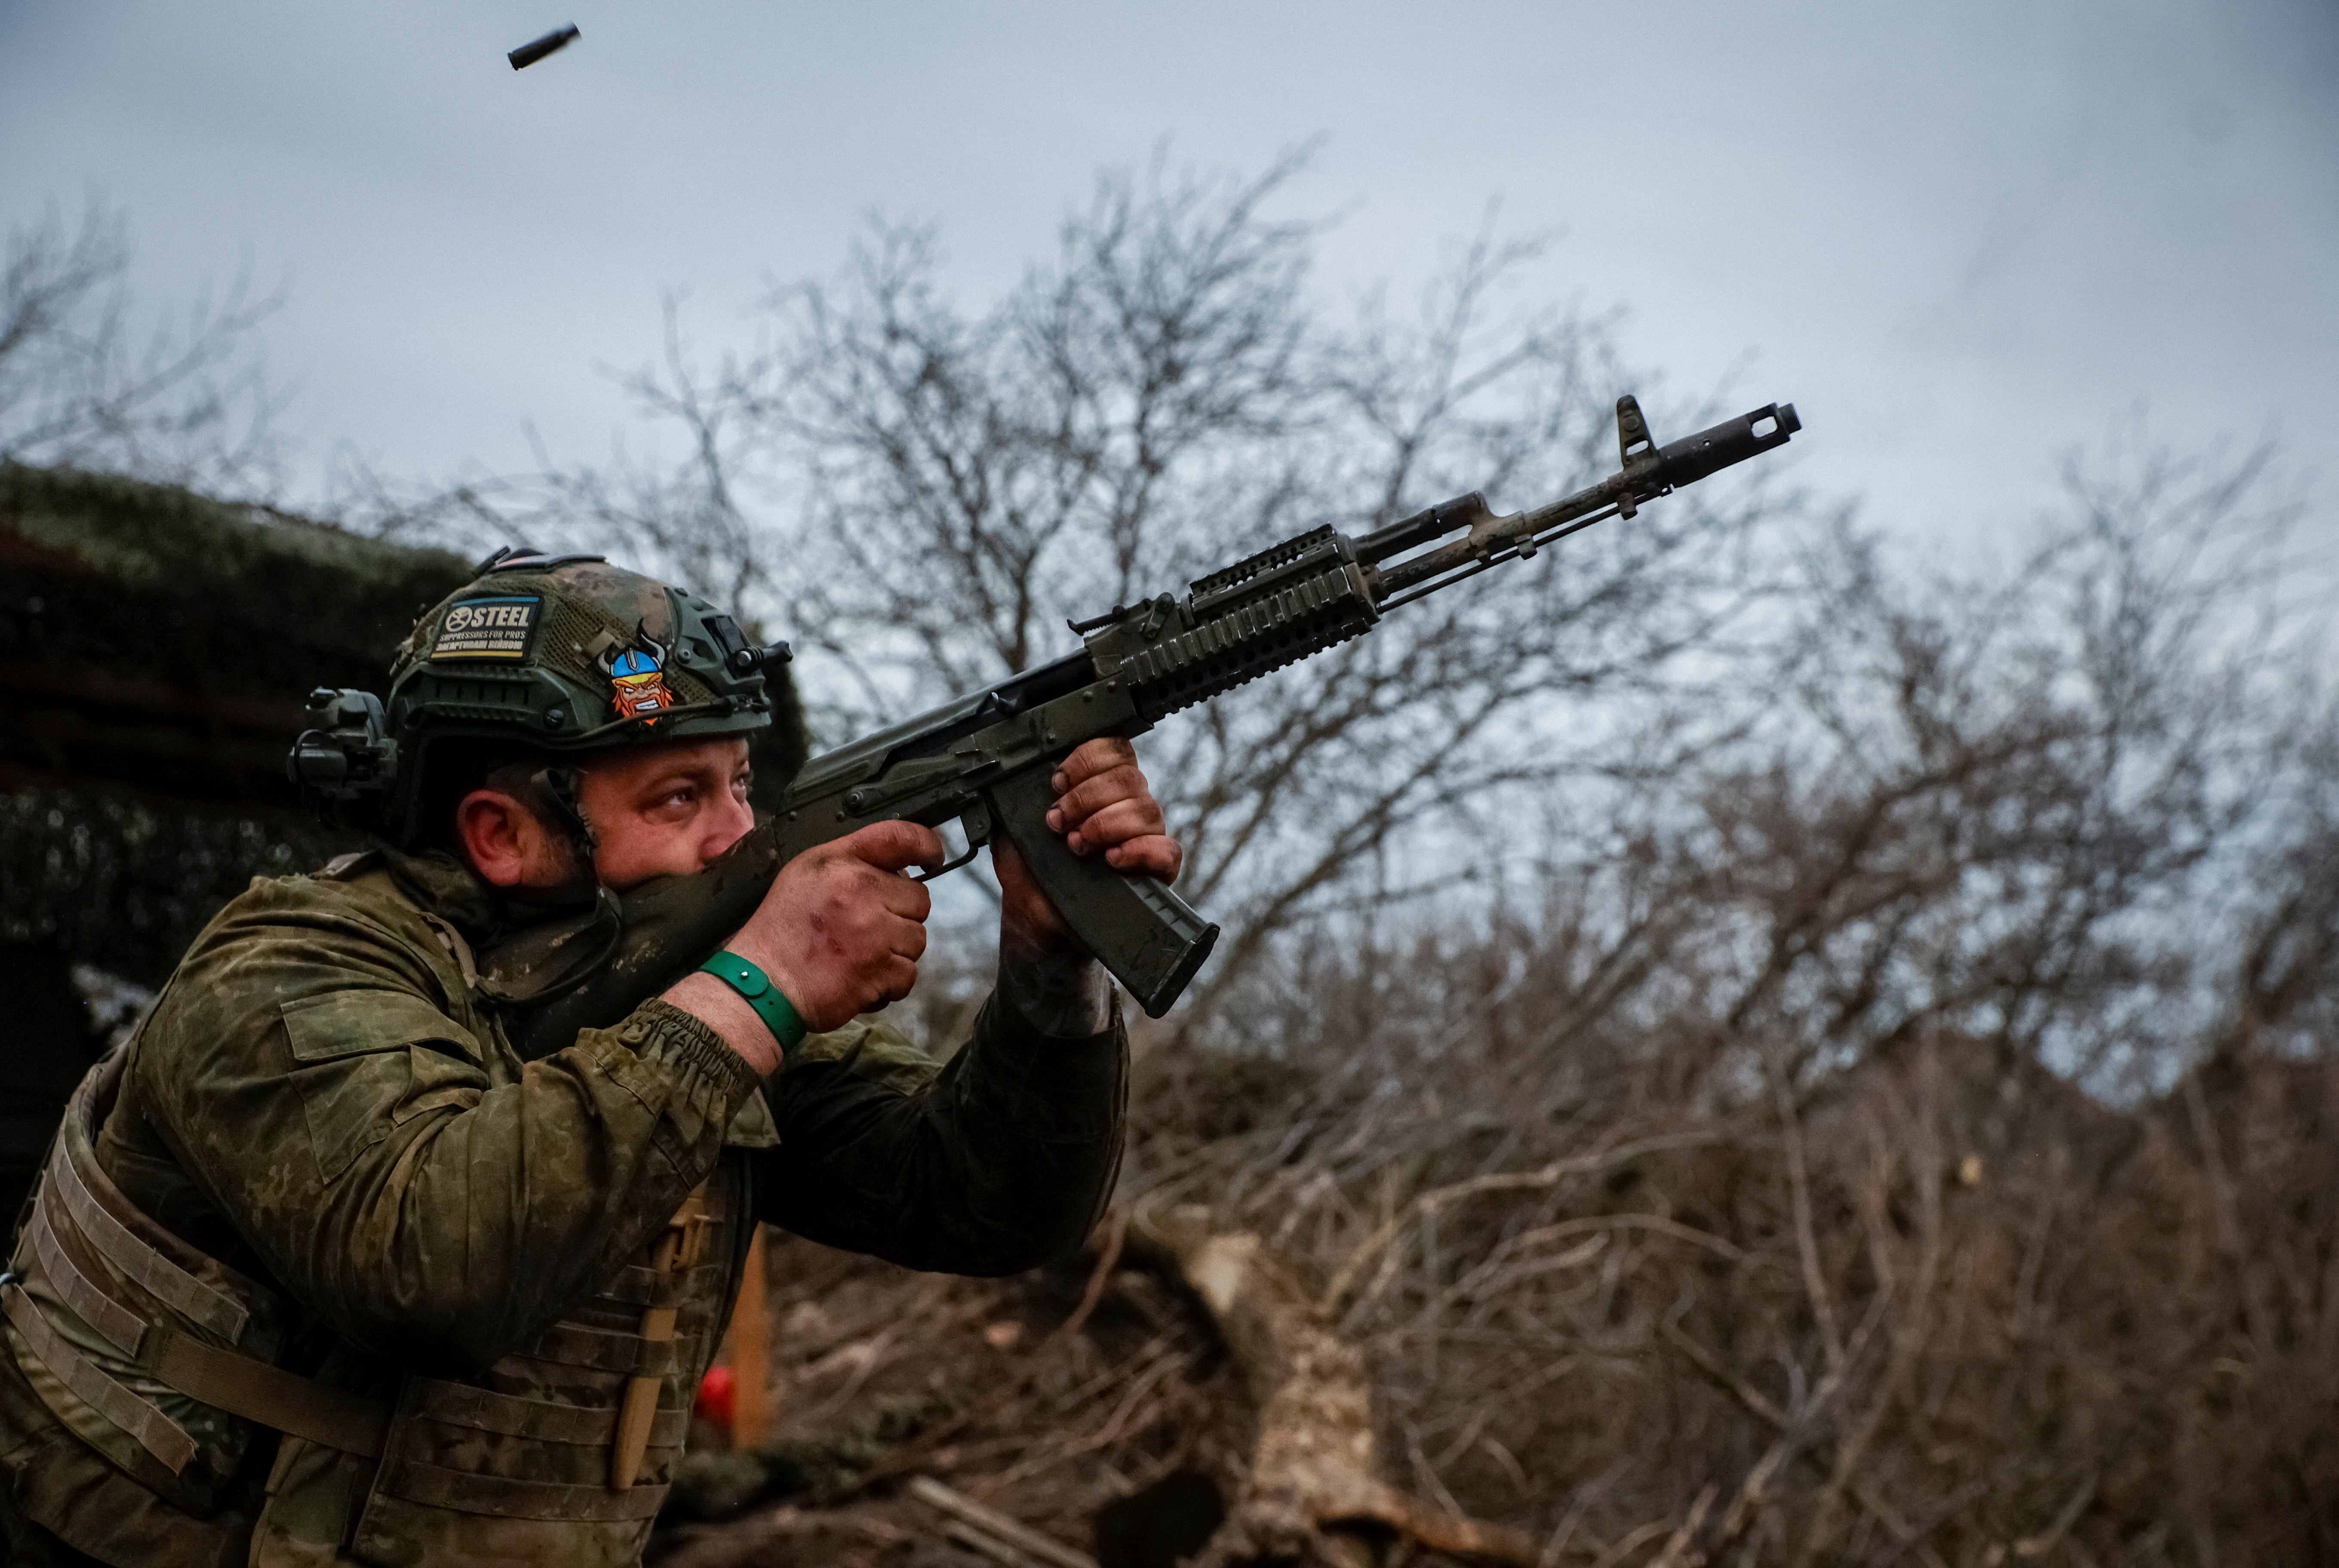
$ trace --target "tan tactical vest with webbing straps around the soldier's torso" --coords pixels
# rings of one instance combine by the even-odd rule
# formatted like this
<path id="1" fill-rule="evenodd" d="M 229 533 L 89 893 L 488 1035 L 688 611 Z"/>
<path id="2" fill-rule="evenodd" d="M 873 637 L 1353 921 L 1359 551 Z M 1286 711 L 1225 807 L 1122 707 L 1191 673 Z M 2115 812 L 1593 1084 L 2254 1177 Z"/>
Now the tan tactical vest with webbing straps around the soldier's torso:
<path id="1" fill-rule="evenodd" d="M 133 1535 L 168 1561 L 639 1561 L 753 1229 L 744 1161 L 718 1164 L 629 1267 L 477 1374 L 339 1346 L 299 1376 L 278 1360 L 302 1309 L 187 1246 L 101 1168 L 133 1049 L 75 1091 L 0 1276 L 0 1339 L 110 1465 L 96 1486 L 30 1477 L 26 1517 L 110 1561 L 138 1510 L 161 1510 Z M 264 1428 L 281 1437 L 246 1514 Z"/>

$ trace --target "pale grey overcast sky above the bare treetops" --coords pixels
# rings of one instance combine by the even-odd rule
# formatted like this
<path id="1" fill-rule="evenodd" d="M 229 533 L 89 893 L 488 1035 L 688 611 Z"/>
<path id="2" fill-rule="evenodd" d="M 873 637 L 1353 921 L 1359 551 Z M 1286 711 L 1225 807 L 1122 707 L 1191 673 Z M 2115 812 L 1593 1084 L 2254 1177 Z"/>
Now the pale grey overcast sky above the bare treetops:
<path id="1" fill-rule="evenodd" d="M 980 299 L 1097 166 L 1319 133 L 1289 210 L 1345 215 L 1326 290 L 1410 287 L 1499 199 L 1562 234 L 1534 292 L 1623 306 L 1675 393 L 1796 402 L 1799 477 L 1909 537 L 2002 537 L 2145 407 L 2283 432 L 2339 540 L 2334 0 L 0 0 L 0 217 L 101 194 L 152 301 L 288 278 L 297 488 L 334 442 L 599 453 L 596 367 L 655 351 L 662 290 L 720 344 L 870 210 L 938 222 Z"/>

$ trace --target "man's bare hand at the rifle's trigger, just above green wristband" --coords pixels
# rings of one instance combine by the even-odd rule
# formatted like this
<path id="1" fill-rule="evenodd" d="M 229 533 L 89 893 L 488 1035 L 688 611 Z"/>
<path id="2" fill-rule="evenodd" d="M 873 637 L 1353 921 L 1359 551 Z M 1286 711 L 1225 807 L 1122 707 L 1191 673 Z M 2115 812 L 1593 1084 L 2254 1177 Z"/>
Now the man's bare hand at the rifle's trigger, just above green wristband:
<path id="1" fill-rule="evenodd" d="M 779 867 L 727 946 L 772 977 L 805 1028 L 849 1024 L 917 984 L 933 895 L 903 869 L 943 860 L 931 827 L 870 823 Z"/>

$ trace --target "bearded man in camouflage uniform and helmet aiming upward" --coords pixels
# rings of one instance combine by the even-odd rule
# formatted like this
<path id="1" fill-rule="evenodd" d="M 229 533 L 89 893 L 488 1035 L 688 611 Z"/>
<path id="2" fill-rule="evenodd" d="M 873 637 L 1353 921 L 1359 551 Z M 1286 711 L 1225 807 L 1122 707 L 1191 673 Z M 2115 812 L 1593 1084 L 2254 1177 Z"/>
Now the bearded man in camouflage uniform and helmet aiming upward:
<path id="1" fill-rule="evenodd" d="M 386 717 L 384 846 L 255 881 L 75 1094 L 0 1276 L 9 1563 L 639 1561 L 753 1222 L 1008 1274 L 1111 1189 L 1118 1000 L 1003 844 L 947 1068 L 861 1019 L 926 944 L 910 823 L 788 862 L 709 972 L 512 1049 L 498 939 L 751 825 L 770 703 L 713 605 L 498 554 Z M 1177 874 L 1127 743 L 1055 788 L 1078 853 Z"/>

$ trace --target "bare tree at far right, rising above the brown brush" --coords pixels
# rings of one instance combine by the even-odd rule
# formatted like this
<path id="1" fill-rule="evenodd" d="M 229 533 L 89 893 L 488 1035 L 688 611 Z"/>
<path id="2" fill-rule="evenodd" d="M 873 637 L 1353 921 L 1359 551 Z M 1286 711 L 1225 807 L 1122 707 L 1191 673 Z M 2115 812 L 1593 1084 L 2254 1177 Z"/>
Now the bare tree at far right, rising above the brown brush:
<path id="1" fill-rule="evenodd" d="M 1810 743 L 1705 785 L 1764 953 L 1724 1014 L 1789 1070 L 1953 1026 L 2082 1077 L 2166 1070 L 2199 925 L 2238 911 L 2295 766 L 2288 509 L 2266 453 L 2072 467 L 1995 580 L 1911 584 L 1841 540 L 1794 694 Z M 2313 699 L 2309 696 L 2309 703 Z"/>

